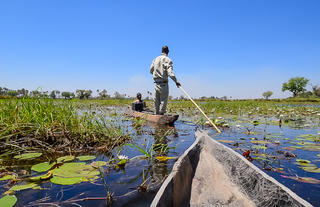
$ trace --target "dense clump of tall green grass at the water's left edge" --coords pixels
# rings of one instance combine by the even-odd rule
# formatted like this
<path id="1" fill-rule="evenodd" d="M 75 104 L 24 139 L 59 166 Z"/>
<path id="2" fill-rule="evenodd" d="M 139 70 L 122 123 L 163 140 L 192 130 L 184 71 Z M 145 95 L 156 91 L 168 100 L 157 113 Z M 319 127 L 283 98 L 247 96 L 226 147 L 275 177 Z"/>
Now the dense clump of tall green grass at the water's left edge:
<path id="1" fill-rule="evenodd" d="M 104 114 L 81 112 L 75 105 L 37 98 L 0 100 L 0 148 L 112 148 L 129 137 Z"/>

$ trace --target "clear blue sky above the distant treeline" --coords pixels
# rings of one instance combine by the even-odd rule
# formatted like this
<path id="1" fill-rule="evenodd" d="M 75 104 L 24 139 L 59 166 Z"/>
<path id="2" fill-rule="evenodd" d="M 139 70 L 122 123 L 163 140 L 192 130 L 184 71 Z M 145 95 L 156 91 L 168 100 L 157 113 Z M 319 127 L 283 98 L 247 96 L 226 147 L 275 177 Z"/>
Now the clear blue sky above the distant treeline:
<path id="1" fill-rule="evenodd" d="M 167 44 L 194 97 L 287 97 L 291 77 L 320 84 L 319 11 L 319 0 L 4 0 L 0 86 L 146 94 Z"/>

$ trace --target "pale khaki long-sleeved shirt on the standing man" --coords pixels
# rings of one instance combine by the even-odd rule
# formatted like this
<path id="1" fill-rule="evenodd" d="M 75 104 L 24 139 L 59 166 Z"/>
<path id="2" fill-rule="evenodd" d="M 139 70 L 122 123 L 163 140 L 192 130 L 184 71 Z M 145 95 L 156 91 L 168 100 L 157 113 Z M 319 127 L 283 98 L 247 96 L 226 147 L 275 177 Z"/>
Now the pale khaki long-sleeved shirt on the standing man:
<path id="1" fill-rule="evenodd" d="M 168 76 L 174 82 L 177 82 L 176 76 L 173 73 L 172 61 L 165 53 L 162 53 L 152 61 L 150 73 L 155 82 L 168 82 Z"/>

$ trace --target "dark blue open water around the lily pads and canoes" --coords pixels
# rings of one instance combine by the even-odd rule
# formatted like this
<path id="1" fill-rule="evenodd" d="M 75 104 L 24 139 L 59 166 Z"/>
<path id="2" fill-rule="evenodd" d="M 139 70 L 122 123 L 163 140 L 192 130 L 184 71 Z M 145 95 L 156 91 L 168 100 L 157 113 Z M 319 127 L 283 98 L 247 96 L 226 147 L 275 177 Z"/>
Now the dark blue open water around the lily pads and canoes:
<path id="1" fill-rule="evenodd" d="M 259 120 L 258 126 L 253 126 L 250 121 Z M 273 121 L 273 122 L 272 122 Z M 133 140 L 131 143 L 149 149 L 155 144 L 169 147 L 167 153 L 161 155 L 169 157 L 180 156 L 194 141 L 194 131 L 199 127 L 191 122 L 183 122 L 178 120 L 175 127 L 159 127 L 154 125 L 144 125 L 140 129 L 132 127 L 131 120 L 121 121 L 122 124 L 132 133 Z M 314 206 L 320 206 L 320 184 L 309 184 L 298 182 L 293 179 L 284 178 L 285 176 L 312 177 L 320 179 L 320 173 L 306 172 L 296 164 L 296 159 L 306 159 L 312 164 L 320 166 L 320 144 L 317 139 L 315 141 L 304 140 L 298 137 L 301 135 L 312 134 L 319 138 L 319 122 L 317 120 L 306 120 L 299 123 L 300 127 L 292 123 L 279 127 L 275 120 L 262 119 L 259 117 L 248 118 L 225 118 L 225 122 L 229 123 L 230 128 L 222 130 L 220 135 L 214 136 L 216 140 L 233 148 L 239 153 L 245 150 L 252 150 L 254 158 L 253 163 L 260 169 L 272 176 L 280 183 L 284 184 L 292 191 L 297 193 L 305 200 L 312 203 Z M 208 129 L 208 128 L 207 128 Z M 246 133 L 250 130 L 250 134 Z M 209 129 L 210 134 L 215 134 L 212 129 Z M 223 141 L 224 140 L 224 141 Z M 232 141 L 232 143 L 226 143 Z M 255 148 L 258 144 L 253 144 L 252 141 L 264 140 L 267 144 L 259 144 L 262 148 Z M 306 145 L 306 143 L 309 143 Z M 310 144 L 312 143 L 312 145 Z M 307 147 L 306 147 L 307 146 Z M 315 146 L 309 148 L 308 146 Z M 317 148 L 319 146 L 319 148 Z M 289 158 L 283 155 L 289 151 L 295 154 L 296 158 Z M 297 147 L 297 148 L 294 148 Z M 310 151 L 312 150 L 312 151 Z M 157 151 L 153 152 L 157 155 Z M 126 155 L 133 158 L 142 155 L 141 152 L 129 146 L 116 148 L 111 154 L 86 153 L 96 155 L 95 161 L 108 161 L 111 157 L 117 154 Z M 262 159 L 260 159 L 262 157 Z M 256 159 L 255 159 L 256 158 Z M 15 172 L 27 170 L 31 175 L 35 172 L 30 170 L 31 165 L 45 161 L 45 156 L 31 161 L 15 161 L 5 160 L 3 165 L 15 165 L 9 169 Z M 104 180 L 109 190 L 113 193 L 115 199 L 112 206 L 149 206 L 155 196 L 161 182 L 165 179 L 172 169 L 176 159 L 170 159 L 167 162 L 148 161 L 145 159 L 136 158 L 128 162 L 124 169 L 113 169 L 108 167 L 102 168 Z M 86 163 L 91 163 L 86 161 Z M 265 170 L 267 169 L 267 170 Z M 270 169 L 281 169 L 272 171 Z M 149 187 L 149 192 L 138 192 L 137 187 L 141 185 L 145 177 L 146 185 Z M 8 190 L 6 184 L 8 181 L 0 181 L 0 193 L 3 194 Z M 27 189 L 16 192 L 18 203 L 16 206 L 36 206 L 45 205 L 54 202 L 60 206 L 74 206 L 76 203 L 82 206 L 105 206 L 105 200 L 102 200 L 106 195 L 106 187 L 101 179 L 94 182 L 82 182 L 75 185 L 56 185 L 50 182 L 40 184 L 41 190 Z M 308 189 L 308 190 L 306 190 Z M 93 200 L 79 200 L 83 198 L 95 198 Z M 70 202 L 68 202 L 70 201 Z M 72 202 L 71 202 L 72 201 Z"/>

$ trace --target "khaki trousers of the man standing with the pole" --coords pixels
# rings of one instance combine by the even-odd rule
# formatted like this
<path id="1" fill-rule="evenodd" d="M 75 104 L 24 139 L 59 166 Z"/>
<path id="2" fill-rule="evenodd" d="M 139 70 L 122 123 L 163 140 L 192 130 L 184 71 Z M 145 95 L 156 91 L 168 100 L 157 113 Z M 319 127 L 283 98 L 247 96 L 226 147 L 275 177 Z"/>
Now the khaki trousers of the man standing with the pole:
<path id="1" fill-rule="evenodd" d="M 164 114 L 167 111 L 169 85 L 168 83 L 154 83 L 154 91 L 154 107 L 156 114 Z"/>

